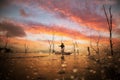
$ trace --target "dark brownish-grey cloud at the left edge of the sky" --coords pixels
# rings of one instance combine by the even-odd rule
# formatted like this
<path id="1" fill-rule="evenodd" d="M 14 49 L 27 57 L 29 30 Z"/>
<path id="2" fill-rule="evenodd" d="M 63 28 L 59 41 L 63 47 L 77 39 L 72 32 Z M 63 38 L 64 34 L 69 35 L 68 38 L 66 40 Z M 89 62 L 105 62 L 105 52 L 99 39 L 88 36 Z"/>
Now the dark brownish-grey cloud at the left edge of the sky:
<path id="1" fill-rule="evenodd" d="M 26 35 L 22 27 L 6 21 L 0 22 L 0 31 L 6 31 L 9 37 L 23 37 Z"/>

